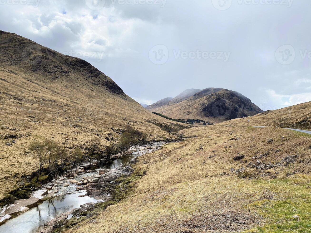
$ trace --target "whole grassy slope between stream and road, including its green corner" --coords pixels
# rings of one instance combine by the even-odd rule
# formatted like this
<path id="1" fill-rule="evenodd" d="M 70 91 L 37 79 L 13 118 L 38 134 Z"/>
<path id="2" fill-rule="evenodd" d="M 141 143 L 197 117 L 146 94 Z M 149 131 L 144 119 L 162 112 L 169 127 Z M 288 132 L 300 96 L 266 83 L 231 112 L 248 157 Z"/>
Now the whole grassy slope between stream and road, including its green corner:
<path id="1" fill-rule="evenodd" d="M 220 125 L 179 133 L 187 139 L 140 158 L 146 175 L 127 199 L 68 232 L 311 230 L 311 137 Z"/>

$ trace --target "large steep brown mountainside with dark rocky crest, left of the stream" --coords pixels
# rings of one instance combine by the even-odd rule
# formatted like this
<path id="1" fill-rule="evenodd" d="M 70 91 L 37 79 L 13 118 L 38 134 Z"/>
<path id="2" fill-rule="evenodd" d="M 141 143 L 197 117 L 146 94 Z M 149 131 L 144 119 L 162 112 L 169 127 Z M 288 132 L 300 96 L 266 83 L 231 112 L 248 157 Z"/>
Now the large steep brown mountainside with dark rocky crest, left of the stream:
<path id="1" fill-rule="evenodd" d="M 0 199 L 21 176 L 37 170 L 28 150 L 48 137 L 68 153 L 94 136 L 101 148 L 127 125 L 148 140 L 175 139 L 167 131 L 189 125 L 146 111 L 90 63 L 19 35 L 0 31 Z"/>

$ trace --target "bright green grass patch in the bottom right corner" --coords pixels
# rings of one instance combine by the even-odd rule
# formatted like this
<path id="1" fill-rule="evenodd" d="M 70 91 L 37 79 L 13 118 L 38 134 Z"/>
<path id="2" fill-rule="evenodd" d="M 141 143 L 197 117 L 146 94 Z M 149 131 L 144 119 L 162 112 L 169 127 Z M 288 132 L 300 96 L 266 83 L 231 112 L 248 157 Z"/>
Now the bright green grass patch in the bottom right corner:
<path id="1" fill-rule="evenodd" d="M 266 218 L 263 226 L 248 232 L 311 232 L 310 176 L 297 175 L 288 179 L 254 180 L 269 190 L 285 190 L 279 199 L 263 199 L 250 205 Z M 298 216 L 298 217 L 293 217 Z"/>

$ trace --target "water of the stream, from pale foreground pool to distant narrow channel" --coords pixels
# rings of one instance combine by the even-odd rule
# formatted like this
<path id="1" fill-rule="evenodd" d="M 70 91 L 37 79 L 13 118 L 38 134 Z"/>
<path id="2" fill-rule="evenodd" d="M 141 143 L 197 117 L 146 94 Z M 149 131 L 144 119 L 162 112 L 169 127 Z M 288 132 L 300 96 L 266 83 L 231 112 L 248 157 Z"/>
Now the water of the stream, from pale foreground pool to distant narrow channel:
<path id="1" fill-rule="evenodd" d="M 147 146 L 133 146 L 128 150 L 128 153 L 114 159 L 113 161 L 105 164 L 104 166 L 97 167 L 91 172 L 82 172 L 74 177 L 76 180 L 81 180 L 84 176 L 98 175 L 99 170 L 108 168 L 110 170 L 119 167 L 119 164 L 126 164 L 131 159 L 150 153 L 160 148 L 163 142 L 153 143 Z M 1 233 L 37 233 L 39 229 L 44 227 L 53 218 L 69 212 L 80 205 L 85 203 L 103 202 L 88 196 L 85 190 L 77 190 L 76 184 L 70 184 L 69 187 L 59 187 L 58 193 L 54 194 L 53 190 L 45 195 L 38 203 L 29 208 L 26 212 L 19 212 L 12 215 L 11 219 L 7 220 L 4 224 L 0 225 Z M 79 197 L 81 196 L 81 197 Z"/>

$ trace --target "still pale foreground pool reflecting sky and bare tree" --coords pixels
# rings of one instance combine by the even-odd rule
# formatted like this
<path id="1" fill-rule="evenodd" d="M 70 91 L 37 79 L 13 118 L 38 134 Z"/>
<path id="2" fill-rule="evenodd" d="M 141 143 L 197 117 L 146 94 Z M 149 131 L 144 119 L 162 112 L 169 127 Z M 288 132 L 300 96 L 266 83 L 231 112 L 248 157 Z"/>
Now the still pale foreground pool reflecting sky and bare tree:
<path id="1" fill-rule="evenodd" d="M 21 213 L 0 226 L 1 233 L 33 233 L 47 224 L 53 218 L 80 207 L 85 203 L 96 203 L 98 200 L 90 197 L 78 197 L 86 192 L 57 196 L 43 201 L 37 207 Z"/>

